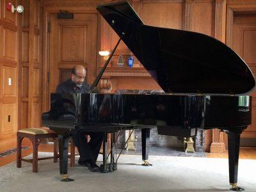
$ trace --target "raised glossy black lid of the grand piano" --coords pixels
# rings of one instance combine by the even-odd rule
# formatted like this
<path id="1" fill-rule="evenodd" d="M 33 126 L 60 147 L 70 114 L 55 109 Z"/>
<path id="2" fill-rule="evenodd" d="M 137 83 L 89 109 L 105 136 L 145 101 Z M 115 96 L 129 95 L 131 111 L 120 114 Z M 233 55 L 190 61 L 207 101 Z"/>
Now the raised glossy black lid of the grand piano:
<path id="1" fill-rule="evenodd" d="M 147 26 L 127 1 L 102 4 L 97 10 L 164 92 L 244 95 L 253 91 L 252 71 L 219 40 Z"/>

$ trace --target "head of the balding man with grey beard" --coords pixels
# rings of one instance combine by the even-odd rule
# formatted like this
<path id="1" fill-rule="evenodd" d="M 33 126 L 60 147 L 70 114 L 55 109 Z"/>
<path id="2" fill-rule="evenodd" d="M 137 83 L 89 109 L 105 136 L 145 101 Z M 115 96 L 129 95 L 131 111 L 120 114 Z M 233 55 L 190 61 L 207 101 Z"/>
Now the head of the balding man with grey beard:
<path id="1" fill-rule="evenodd" d="M 81 87 L 86 77 L 86 70 L 82 65 L 76 65 L 72 68 L 71 79 L 76 86 Z"/>

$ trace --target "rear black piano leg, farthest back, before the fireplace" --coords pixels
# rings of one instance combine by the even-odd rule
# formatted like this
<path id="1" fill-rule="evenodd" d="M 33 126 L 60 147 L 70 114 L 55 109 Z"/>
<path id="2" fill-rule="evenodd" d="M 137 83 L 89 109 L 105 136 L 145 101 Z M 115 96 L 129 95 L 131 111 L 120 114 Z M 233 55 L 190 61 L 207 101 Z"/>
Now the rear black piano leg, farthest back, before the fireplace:
<path id="1" fill-rule="evenodd" d="M 142 160 L 144 161 L 142 166 L 152 166 L 148 163 L 148 150 L 149 150 L 149 138 L 150 138 L 150 129 L 141 129 L 141 148 L 142 148 Z"/>

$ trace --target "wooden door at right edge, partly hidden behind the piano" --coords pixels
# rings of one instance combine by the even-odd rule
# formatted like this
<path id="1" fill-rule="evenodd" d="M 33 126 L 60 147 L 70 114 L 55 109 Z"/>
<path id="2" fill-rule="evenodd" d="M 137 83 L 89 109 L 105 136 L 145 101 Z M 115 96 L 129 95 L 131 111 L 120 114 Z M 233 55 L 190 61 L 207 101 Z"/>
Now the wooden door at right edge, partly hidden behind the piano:
<path id="1" fill-rule="evenodd" d="M 235 15 L 232 48 L 256 77 L 256 15 Z M 256 146 L 256 91 L 252 94 L 252 125 L 241 134 L 241 146 Z"/>

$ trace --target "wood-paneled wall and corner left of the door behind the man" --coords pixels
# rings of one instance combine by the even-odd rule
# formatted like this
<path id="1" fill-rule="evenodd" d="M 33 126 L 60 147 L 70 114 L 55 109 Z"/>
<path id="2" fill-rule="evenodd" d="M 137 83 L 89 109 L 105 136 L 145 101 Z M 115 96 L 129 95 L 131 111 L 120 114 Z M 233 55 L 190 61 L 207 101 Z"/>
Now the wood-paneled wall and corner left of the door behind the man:
<path id="1" fill-rule="evenodd" d="M 24 6 L 24 13 L 6 10 Z M 1 0 L 0 151 L 14 148 L 16 132 L 39 127 L 42 104 L 40 2 Z"/>

